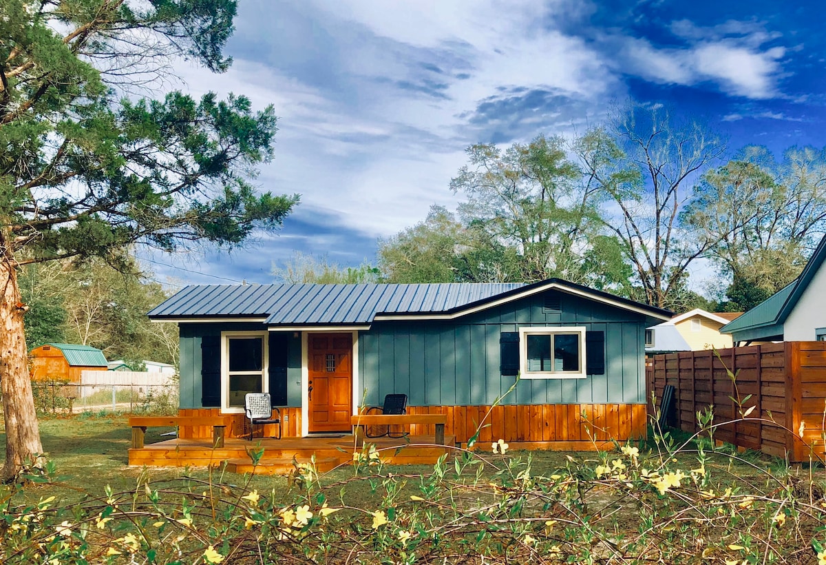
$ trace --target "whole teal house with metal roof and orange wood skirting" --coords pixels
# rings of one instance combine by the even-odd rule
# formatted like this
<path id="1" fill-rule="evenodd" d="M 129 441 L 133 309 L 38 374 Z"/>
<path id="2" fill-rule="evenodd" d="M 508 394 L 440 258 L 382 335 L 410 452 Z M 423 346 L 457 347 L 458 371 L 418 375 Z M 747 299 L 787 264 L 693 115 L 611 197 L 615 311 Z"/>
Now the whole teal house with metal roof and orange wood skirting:
<path id="1" fill-rule="evenodd" d="M 643 436 L 645 328 L 671 315 L 556 279 L 197 285 L 149 313 L 180 329 L 182 414 L 242 419 L 244 394 L 265 391 L 306 436 L 349 431 L 359 405 L 404 393 L 413 413 L 447 410 L 458 442 L 502 395 L 504 421 L 488 423 L 506 441 L 585 442 L 582 410 L 617 439 Z"/>

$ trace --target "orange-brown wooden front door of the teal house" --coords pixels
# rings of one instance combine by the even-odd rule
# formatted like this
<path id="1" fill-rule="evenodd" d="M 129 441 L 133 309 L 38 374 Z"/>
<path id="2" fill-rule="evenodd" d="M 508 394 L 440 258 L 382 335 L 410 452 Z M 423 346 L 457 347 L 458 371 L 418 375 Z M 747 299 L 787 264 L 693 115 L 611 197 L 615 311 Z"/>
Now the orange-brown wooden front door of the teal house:
<path id="1" fill-rule="evenodd" d="M 353 336 L 311 333 L 307 338 L 310 433 L 349 432 L 353 415 Z"/>

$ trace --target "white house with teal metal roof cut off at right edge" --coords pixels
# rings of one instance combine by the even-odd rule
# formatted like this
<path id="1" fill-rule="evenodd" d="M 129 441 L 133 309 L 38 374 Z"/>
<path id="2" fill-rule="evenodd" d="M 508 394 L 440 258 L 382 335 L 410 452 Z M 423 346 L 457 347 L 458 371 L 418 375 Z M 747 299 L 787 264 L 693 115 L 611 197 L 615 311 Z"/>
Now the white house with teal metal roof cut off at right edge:
<path id="1" fill-rule="evenodd" d="M 721 328 L 734 342 L 826 341 L 826 237 L 790 285 Z"/>

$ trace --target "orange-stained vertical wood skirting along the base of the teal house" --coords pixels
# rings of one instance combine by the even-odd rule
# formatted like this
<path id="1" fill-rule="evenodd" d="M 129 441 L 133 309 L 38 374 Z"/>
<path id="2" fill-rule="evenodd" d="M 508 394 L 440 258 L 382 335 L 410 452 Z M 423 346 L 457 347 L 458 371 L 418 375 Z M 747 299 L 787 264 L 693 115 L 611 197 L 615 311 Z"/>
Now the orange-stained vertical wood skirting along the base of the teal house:
<path id="1" fill-rule="evenodd" d="M 490 414 L 488 414 L 490 411 Z M 626 441 L 645 438 L 647 415 L 645 405 L 498 405 L 490 406 L 408 406 L 408 414 L 444 414 L 447 422 L 444 433 L 455 435 L 457 443 L 467 443 L 482 426 L 478 443 L 492 443 L 504 439 L 525 448 L 588 448 L 594 443 L 605 444 L 611 439 Z M 301 435 L 301 408 L 282 408 L 283 436 Z M 181 416 L 217 416 L 216 408 L 181 409 Z M 244 437 L 244 414 L 225 415 L 226 437 Z M 260 426 L 258 427 L 260 428 Z M 276 434 L 274 426 L 263 426 L 264 434 Z M 433 424 L 413 424 L 413 435 L 433 435 Z M 182 439 L 212 437 L 208 426 L 187 427 L 179 430 Z M 258 434 L 256 429 L 256 434 Z M 543 447 L 547 446 L 547 447 Z"/>

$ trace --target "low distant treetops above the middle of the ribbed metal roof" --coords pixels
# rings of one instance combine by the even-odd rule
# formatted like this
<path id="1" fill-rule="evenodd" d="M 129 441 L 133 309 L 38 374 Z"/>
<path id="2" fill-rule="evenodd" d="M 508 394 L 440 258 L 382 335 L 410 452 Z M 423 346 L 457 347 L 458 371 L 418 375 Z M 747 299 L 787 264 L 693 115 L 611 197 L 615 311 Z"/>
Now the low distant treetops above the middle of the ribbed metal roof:
<path id="1" fill-rule="evenodd" d="M 273 263 L 273 276 L 279 282 L 292 285 L 359 285 L 378 282 L 379 271 L 367 261 L 358 267 L 342 267 L 331 263 L 327 256 L 311 256 L 294 251 L 284 266 Z"/>

